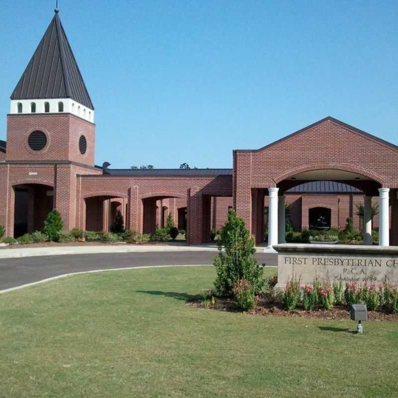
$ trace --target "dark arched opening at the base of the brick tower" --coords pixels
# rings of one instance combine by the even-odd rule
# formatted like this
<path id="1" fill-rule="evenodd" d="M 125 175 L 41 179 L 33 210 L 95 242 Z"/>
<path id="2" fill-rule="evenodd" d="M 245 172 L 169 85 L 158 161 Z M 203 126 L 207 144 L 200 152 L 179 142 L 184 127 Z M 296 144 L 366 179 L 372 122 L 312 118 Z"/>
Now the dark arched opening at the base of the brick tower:
<path id="1" fill-rule="evenodd" d="M 14 237 L 43 229 L 47 214 L 54 208 L 54 190 L 42 184 L 21 184 L 13 187 Z"/>

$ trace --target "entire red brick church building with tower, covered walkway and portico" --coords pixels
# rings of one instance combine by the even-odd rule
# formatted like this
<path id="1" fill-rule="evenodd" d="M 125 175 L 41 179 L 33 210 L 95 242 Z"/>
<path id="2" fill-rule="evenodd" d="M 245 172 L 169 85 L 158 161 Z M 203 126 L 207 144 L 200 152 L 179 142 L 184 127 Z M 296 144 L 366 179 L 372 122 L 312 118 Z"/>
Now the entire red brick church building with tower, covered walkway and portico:
<path id="1" fill-rule="evenodd" d="M 95 110 L 58 10 L 11 94 L 0 141 L 0 224 L 8 236 L 40 230 L 56 208 L 65 229 L 106 231 L 119 209 L 126 228 L 153 232 L 171 213 L 187 242 L 236 209 L 257 244 L 285 241 L 286 205 L 296 230 L 354 226 L 371 244 L 398 244 L 398 147 L 326 117 L 256 150 L 233 151 L 232 169 L 111 169 L 95 165 Z M 360 220 L 357 207 L 362 203 Z"/>

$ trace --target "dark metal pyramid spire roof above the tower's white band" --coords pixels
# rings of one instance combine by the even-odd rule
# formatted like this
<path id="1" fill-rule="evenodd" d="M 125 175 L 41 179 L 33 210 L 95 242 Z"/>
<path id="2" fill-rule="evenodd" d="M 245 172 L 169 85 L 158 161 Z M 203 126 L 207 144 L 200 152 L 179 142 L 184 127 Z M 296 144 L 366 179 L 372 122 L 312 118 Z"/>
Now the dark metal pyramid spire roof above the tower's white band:
<path id="1" fill-rule="evenodd" d="M 94 109 L 57 10 L 11 100 L 71 98 Z"/>

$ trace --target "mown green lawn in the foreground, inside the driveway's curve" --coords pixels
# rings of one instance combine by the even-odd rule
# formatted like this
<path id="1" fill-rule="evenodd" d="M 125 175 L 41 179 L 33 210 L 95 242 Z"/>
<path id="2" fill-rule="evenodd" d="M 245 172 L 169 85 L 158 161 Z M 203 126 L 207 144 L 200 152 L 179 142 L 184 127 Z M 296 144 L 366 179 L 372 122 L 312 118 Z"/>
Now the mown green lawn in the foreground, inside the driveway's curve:
<path id="1" fill-rule="evenodd" d="M 0 397 L 397 397 L 398 323 L 185 305 L 212 267 L 86 274 L 0 296 Z"/>

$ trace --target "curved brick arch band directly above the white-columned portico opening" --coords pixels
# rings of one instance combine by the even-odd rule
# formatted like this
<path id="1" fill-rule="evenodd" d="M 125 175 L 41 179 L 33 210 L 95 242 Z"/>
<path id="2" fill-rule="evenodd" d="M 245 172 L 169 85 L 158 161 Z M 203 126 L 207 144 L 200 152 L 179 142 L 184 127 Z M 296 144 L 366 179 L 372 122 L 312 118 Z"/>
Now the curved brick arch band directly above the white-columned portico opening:
<path id="1" fill-rule="evenodd" d="M 290 169 L 283 174 L 280 174 L 278 177 L 274 179 L 275 183 L 278 184 L 283 180 L 286 180 L 290 177 L 293 177 L 297 174 L 305 173 L 308 171 L 316 171 L 316 170 L 341 170 L 349 173 L 360 174 L 362 176 L 368 177 L 379 184 L 384 184 L 384 178 L 379 174 L 373 173 L 369 170 L 366 170 L 362 167 L 351 166 L 344 163 L 310 163 L 304 166 L 299 166 L 294 169 Z"/>

